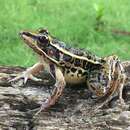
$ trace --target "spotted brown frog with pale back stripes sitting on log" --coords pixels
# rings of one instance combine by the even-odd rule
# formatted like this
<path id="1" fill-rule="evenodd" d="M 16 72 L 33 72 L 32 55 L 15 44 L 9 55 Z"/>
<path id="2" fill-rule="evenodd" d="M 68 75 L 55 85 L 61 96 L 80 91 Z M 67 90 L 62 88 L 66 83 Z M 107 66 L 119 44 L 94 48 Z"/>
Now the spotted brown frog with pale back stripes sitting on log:
<path id="1" fill-rule="evenodd" d="M 21 31 L 19 35 L 38 55 L 39 61 L 10 82 L 22 78 L 23 84 L 26 84 L 28 79 L 42 81 L 36 75 L 43 70 L 47 70 L 56 81 L 52 94 L 42 103 L 40 112 L 57 102 L 66 84 L 75 86 L 85 83 L 93 94 L 105 100 L 118 92 L 119 100 L 123 103 L 122 91 L 126 75 L 118 56 L 99 57 L 88 50 L 68 47 L 44 28 L 37 31 Z"/>

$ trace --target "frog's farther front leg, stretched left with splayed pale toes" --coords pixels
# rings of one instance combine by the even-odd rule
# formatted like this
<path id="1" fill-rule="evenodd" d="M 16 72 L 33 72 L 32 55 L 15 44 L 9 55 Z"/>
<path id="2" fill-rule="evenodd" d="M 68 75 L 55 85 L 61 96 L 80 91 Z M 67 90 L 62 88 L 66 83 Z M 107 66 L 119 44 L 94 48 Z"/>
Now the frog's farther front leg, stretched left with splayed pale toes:
<path id="1" fill-rule="evenodd" d="M 26 71 L 19 74 L 14 79 L 10 80 L 10 82 L 14 82 L 22 78 L 24 79 L 24 84 L 27 82 L 28 79 L 31 79 L 33 81 L 41 81 L 41 79 L 36 78 L 34 75 L 37 75 L 43 69 L 44 69 L 43 64 L 41 62 L 38 62 L 32 67 L 28 68 Z"/>

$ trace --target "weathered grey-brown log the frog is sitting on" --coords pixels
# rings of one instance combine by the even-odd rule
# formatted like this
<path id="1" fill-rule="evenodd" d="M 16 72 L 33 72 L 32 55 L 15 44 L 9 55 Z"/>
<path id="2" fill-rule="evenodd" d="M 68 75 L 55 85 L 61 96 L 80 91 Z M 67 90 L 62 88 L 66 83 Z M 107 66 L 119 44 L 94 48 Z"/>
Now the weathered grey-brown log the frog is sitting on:
<path id="1" fill-rule="evenodd" d="M 25 86 L 13 87 L 8 82 L 25 70 L 21 67 L 0 67 L 0 129 L 1 130 L 125 130 L 130 126 L 130 62 L 123 62 L 127 74 L 123 96 L 127 110 L 115 103 L 89 114 L 91 92 L 83 86 L 67 86 L 59 101 L 37 117 L 32 110 L 50 95 L 54 79 L 40 74 L 43 81 L 28 81 Z"/>

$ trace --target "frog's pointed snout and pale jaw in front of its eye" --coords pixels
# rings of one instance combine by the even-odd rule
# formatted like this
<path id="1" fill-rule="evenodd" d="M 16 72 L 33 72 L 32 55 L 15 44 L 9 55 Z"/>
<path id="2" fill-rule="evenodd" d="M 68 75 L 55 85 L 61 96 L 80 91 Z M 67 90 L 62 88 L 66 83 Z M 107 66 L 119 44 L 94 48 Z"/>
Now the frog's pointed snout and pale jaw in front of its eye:
<path id="1" fill-rule="evenodd" d="M 32 48 L 37 54 L 42 55 L 42 50 L 37 46 L 37 34 L 21 31 L 19 35 L 30 48 Z"/>

